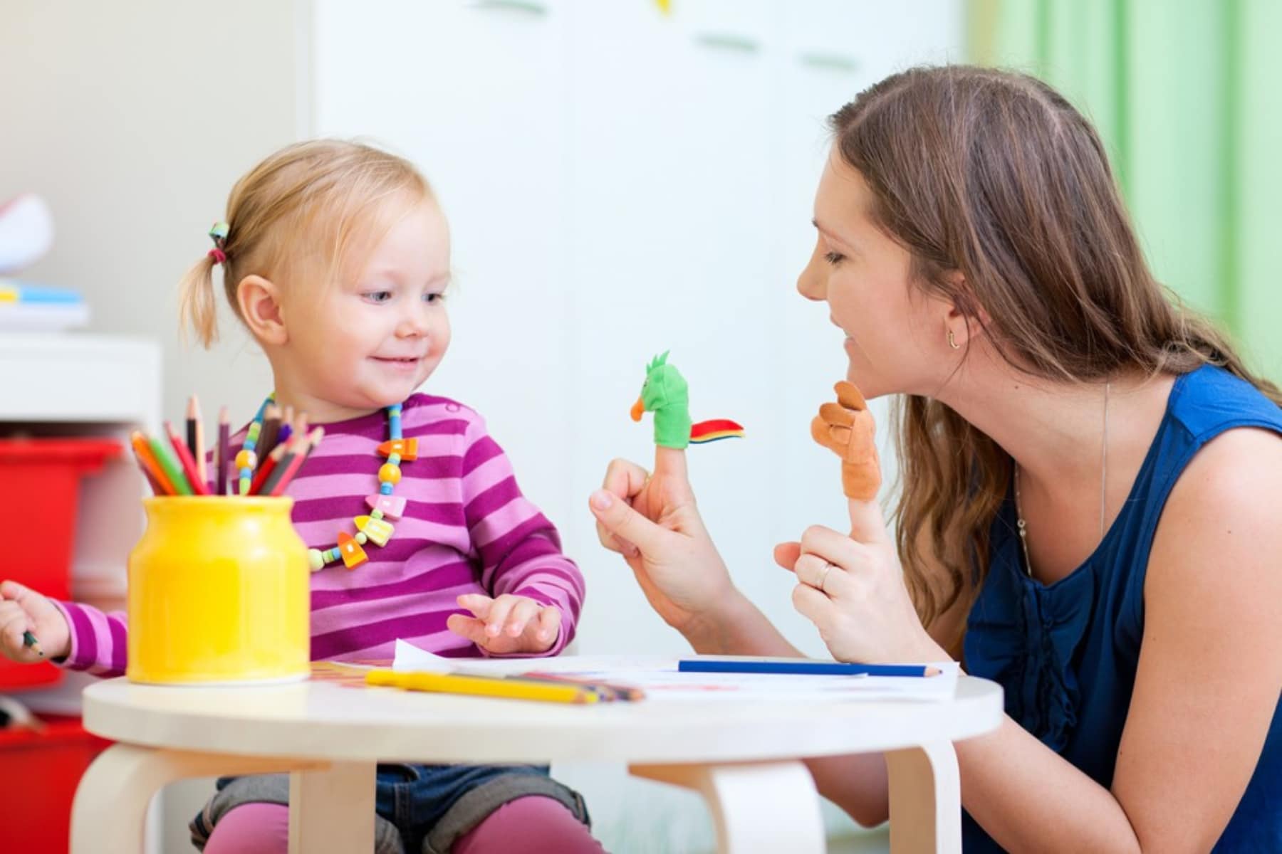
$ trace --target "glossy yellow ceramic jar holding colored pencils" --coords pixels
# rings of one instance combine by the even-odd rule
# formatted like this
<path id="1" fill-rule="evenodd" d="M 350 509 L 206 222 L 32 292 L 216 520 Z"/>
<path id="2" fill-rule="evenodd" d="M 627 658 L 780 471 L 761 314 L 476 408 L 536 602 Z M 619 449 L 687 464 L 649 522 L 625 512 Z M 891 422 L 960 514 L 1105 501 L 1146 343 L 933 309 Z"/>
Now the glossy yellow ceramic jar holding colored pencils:
<path id="1" fill-rule="evenodd" d="M 129 553 L 129 652 L 136 682 L 305 679 L 310 571 L 292 498 L 158 497 Z"/>

